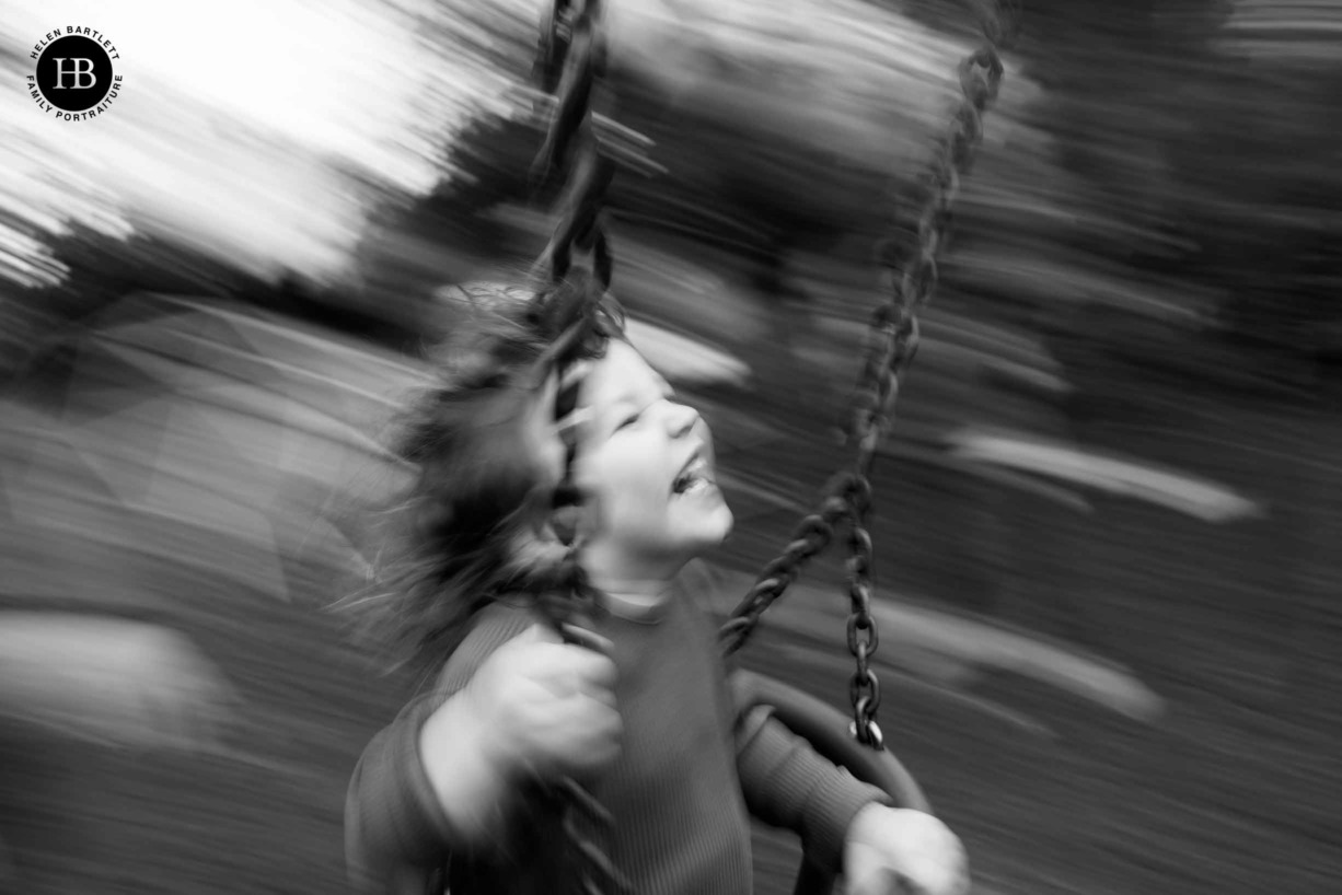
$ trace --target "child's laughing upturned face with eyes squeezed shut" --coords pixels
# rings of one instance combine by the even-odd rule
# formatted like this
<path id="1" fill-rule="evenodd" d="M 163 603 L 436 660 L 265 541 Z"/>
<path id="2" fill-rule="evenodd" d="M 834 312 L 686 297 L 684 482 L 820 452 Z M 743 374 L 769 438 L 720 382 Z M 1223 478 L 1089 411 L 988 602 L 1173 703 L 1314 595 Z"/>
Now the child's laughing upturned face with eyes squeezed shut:
<path id="1" fill-rule="evenodd" d="M 722 542 L 731 510 L 699 413 L 629 345 L 612 341 L 582 381 L 574 482 L 596 510 L 584 565 L 597 584 L 664 578 Z"/>

